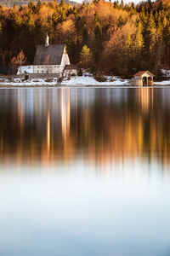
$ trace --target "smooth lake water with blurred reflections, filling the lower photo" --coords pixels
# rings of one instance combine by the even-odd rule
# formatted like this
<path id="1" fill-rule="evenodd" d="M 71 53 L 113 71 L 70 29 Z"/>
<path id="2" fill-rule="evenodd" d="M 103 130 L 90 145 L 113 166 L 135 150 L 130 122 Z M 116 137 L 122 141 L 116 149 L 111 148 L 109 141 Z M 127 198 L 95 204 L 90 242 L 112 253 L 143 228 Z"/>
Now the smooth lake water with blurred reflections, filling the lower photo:
<path id="1" fill-rule="evenodd" d="M 0 90 L 0 255 L 170 255 L 170 89 Z"/>

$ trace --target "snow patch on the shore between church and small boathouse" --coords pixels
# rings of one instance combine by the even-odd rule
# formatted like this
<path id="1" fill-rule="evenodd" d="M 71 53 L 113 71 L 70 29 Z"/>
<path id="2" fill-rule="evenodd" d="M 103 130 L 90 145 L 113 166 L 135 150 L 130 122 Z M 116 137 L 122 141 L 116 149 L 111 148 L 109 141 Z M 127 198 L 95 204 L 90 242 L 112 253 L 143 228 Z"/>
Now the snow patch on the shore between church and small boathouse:
<path id="1" fill-rule="evenodd" d="M 82 77 L 71 77 L 71 79 L 64 79 L 61 85 L 129 85 L 128 80 L 118 79 L 116 77 L 105 78 L 105 82 L 98 82 L 92 76 L 83 75 Z"/>

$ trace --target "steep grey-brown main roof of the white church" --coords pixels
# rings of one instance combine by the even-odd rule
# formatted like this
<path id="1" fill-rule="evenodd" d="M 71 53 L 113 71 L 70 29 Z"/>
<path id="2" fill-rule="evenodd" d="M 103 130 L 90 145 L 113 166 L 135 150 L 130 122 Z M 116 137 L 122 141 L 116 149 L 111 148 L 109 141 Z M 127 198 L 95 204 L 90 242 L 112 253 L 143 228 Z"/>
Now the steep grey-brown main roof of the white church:
<path id="1" fill-rule="evenodd" d="M 37 45 L 33 65 L 60 65 L 65 44 Z"/>

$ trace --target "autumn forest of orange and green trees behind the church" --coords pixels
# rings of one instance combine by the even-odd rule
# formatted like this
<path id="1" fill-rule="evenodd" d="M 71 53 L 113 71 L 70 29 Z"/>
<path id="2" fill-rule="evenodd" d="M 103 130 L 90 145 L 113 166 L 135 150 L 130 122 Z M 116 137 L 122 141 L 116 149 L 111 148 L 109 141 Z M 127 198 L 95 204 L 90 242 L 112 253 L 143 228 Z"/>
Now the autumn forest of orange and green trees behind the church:
<path id="1" fill-rule="evenodd" d="M 92 73 L 128 78 L 150 70 L 158 78 L 161 68 L 170 69 L 167 0 L 0 6 L 0 66 L 13 66 L 17 58 L 20 64 L 32 64 L 37 44 L 44 44 L 47 33 L 50 44 L 66 44 L 71 63 Z"/>

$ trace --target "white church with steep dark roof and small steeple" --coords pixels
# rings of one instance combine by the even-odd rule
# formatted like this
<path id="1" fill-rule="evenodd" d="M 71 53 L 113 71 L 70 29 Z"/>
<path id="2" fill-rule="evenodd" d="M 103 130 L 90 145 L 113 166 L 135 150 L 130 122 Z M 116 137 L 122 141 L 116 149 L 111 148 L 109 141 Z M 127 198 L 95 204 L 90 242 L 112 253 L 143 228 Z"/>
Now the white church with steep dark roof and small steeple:
<path id="1" fill-rule="evenodd" d="M 49 44 L 48 35 L 45 45 L 37 45 L 33 65 L 21 66 L 17 74 L 58 74 L 59 77 L 77 75 L 77 66 L 71 65 L 65 44 Z"/>

